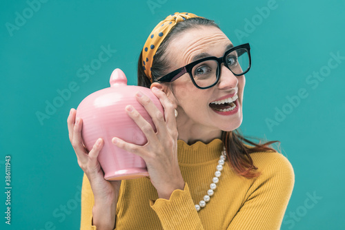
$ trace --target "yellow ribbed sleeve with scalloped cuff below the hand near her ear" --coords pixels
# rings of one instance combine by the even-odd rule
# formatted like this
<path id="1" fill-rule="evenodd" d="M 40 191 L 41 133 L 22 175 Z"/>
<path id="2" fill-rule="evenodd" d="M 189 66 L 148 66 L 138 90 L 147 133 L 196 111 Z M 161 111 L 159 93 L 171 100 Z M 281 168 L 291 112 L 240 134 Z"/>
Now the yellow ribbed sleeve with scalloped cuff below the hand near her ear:
<path id="1" fill-rule="evenodd" d="M 164 230 L 186 229 L 203 230 L 201 220 L 195 209 L 195 205 L 188 184 L 184 190 L 176 189 L 169 200 L 158 198 L 150 200 L 150 207 L 157 213 Z"/>

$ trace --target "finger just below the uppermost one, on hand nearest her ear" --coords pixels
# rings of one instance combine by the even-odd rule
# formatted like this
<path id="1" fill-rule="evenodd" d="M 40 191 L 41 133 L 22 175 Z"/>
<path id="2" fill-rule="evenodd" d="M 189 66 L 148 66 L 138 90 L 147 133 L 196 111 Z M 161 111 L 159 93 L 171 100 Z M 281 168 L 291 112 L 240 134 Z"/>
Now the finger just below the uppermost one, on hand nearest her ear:
<path id="1" fill-rule="evenodd" d="M 144 106 L 144 108 L 152 118 L 152 121 L 157 129 L 157 133 L 161 135 L 166 135 L 166 132 L 168 132 L 168 130 L 166 129 L 166 121 L 164 121 L 164 116 L 159 111 L 157 106 L 152 102 L 152 100 L 148 96 L 142 94 L 141 92 L 137 92 L 135 96 L 137 97 L 139 103 Z"/>

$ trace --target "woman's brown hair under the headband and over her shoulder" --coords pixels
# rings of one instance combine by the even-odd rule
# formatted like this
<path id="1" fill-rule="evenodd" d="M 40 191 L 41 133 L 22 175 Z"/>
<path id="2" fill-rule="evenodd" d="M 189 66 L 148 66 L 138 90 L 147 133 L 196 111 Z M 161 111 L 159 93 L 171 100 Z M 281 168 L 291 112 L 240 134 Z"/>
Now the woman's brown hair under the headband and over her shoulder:
<path id="1" fill-rule="evenodd" d="M 168 48 L 168 44 L 170 43 L 170 41 L 181 32 L 184 32 L 191 28 L 201 28 L 201 26 L 214 26 L 216 28 L 219 28 L 219 26 L 213 20 L 195 17 L 177 23 L 170 30 L 169 34 L 166 36 L 164 41 L 161 43 L 161 45 L 159 45 L 159 48 L 157 49 L 157 52 L 152 62 L 151 72 L 153 82 L 157 82 L 157 78 L 159 76 L 164 76 L 165 74 L 168 74 L 167 70 L 170 67 L 170 63 L 166 59 L 166 49 Z M 140 53 L 138 61 L 138 85 L 150 87 L 151 82 L 143 70 L 143 60 L 141 56 L 142 51 Z M 172 84 L 168 84 L 168 87 L 173 92 L 174 89 L 172 87 Z M 247 138 L 244 138 L 244 136 L 242 136 L 238 129 L 235 129 L 230 132 L 222 132 L 221 140 L 223 141 L 224 146 L 226 147 L 226 154 L 229 159 L 230 166 L 233 167 L 233 169 L 235 169 L 237 174 L 244 176 L 246 178 L 254 178 L 260 175 L 258 171 L 253 171 L 256 170 L 257 167 L 253 165 L 253 160 L 250 157 L 250 154 L 258 151 L 276 151 L 275 149 L 269 146 L 276 142 L 280 143 L 278 140 L 273 140 L 267 143 L 260 144 L 260 140 L 260 142 L 256 144 L 248 140 Z M 252 146 L 246 145 L 244 142 L 249 143 Z"/>

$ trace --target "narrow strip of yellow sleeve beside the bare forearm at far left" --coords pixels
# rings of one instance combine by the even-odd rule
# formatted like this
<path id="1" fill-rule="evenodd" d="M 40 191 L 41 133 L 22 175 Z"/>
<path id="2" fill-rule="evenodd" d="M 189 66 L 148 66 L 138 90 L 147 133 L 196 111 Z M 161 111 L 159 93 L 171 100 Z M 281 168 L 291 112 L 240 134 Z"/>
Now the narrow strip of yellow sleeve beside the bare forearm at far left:
<path id="1" fill-rule="evenodd" d="M 97 230 L 92 225 L 92 207 L 95 205 L 95 197 L 86 174 L 83 174 L 83 185 L 81 187 L 81 230 Z"/>

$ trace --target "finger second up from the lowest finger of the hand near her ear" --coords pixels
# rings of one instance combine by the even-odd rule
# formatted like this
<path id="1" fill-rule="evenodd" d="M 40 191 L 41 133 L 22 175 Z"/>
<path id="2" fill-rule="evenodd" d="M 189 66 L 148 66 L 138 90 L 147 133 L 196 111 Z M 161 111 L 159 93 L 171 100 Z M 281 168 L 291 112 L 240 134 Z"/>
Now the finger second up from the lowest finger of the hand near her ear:
<path id="1" fill-rule="evenodd" d="M 148 121 L 146 121 L 141 114 L 139 114 L 137 109 L 132 107 L 132 105 L 127 105 L 126 112 L 128 116 L 130 116 L 130 118 L 132 118 L 132 120 L 139 126 L 148 141 L 157 141 L 157 136 L 152 128 L 152 125 L 148 123 Z"/>

